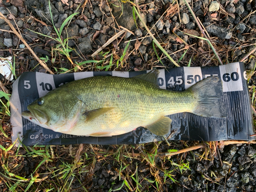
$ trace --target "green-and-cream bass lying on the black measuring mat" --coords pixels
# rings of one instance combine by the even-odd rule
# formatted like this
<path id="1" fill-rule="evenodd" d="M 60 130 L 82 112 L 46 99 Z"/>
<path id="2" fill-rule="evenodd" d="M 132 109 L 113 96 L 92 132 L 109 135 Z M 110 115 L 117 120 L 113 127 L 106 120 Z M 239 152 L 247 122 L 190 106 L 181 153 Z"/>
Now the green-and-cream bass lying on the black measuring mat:
<path id="1" fill-rule="evenodd" d="M 221 117 L 218 76 L 203 79 L 185 91 L 158 86 L 159 71 L 132 78 L 94 76 L 60 86 L 28 105 L 22 116 L 55 132 L 107 137 L 145 127 L 153 134 L 169 133 L 171 114 L 188 112 Z"/>

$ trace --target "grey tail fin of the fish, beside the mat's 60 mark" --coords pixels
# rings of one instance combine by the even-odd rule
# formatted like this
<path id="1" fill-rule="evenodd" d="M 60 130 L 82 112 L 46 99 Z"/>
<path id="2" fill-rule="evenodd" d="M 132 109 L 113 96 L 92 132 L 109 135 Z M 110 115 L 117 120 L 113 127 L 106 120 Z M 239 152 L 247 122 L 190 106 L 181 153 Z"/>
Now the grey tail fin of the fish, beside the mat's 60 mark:
<path id="1" fill-rule="evenodd" d="M 222 117 L 220 97 L 222 82 L 218 76 L 211 76 L 189 88 L 198 100 L 192 113 L 203 117 Z"/>

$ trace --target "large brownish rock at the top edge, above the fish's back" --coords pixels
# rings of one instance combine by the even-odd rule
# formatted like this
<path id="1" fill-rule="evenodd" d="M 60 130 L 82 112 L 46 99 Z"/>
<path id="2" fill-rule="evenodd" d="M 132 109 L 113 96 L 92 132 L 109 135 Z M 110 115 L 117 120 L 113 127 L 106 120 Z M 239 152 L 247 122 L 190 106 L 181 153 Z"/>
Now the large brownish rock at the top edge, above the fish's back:
<path id="1" fill-rule="evenodd" d="M 121 4 L 118 0 L 112 2 L 112 14 L 116 18 L 118 25 L 133 31 L 136 25 L 133 19 L 133 8 L 129 4 Z"/>

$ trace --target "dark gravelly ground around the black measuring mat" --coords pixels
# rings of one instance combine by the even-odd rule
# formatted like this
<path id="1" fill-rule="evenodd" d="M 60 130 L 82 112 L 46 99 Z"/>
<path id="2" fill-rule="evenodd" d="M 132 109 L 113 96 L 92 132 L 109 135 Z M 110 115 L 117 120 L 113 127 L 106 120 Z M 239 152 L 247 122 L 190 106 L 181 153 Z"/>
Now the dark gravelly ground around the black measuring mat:
<path id="1" fill-rule="evenodd" d="M 223 64 L 240 61 L 256 45 L 255 0 L 188 2 L 202 23 L 205 32 L 209 35 Z M 147 34 L 142 22 L 139 18 L 137 18 L 136 23 L 134 22 L 133 4 L 133 2 L 120 3 L 118 1 L 57 0 L 50 1 L 49 7 L 47 0 L 2 0 L 0 12 L 7 16 L 38 57 L 49 58 L 46 60 L 47 66 L 55 74 L 63 72 L 64 68 L 66 70 L 74 69 L 70 61 L 54 49 L 57 43 L 50 37 L 56 38 L 54 27 L 59 29 L 65 19 L 76 11 L 79 13 L 73 17 L 67 29 L 62 32 L 62 39 L 70 38 L 68 45 L 74 63 L 100 59 L 106 59 L 109 62 L 111 55 L 113 55 L 115 65 L 108 70 L 138 71 L 175 67 L 155 46 L 162 63 L 159 61 L 152 45 L 152 38 Z M 173 0 L 139 0 L 139 6 L 144 22 L 148 28 L 152 29 L 154 36 L 174 60 L 178 61 L 186 51 L 179 63 L 180 66 L 187 66 L 190 58 L 191 67 L 220 65 L 206 41 L 202 45 L 198 38 L 183 33 L 196 36 L 201 34 L 195 19 L 191 16 L 183 0 L 179 1 L 179 6 Z M 51 18 L 50 8 L 53 18 Z M 53 20 L 54 26 L 51 20 Z M 96 50 L 124 28 L 126 33 L 117 37 L 111 44 L 104 47 L 102 52 L 92 57 Z M 0 29 L 0 56 L 15 56 L 17 77 L 28 71 L 46 72 L 44 67 L 37 65 L 38 61 L 1 18 Z M 142 39 L 141 37 L 145 38 Z M 123 63 L 117 67 L 116 62 L 121 58 L 130 39 Z M 251 53 L 244 60 L 249 73 L 254 70 L 255 55 L 255 52 Z M 81 66 L 81 70 L 74 71 L 105 69 L 91 63 Z M 255 86 L 255 79 L 256 76 L 252 75 L 249 86 Z M 8 81 L 2 76 L 2 81 L 11 93 L 11 84 L 14 80 Z M 5 123 L 8 124 L 9 119 L 6 119 Z M 10 127 L 6 127 L 5 131 L 10 138 Z M 1 135 L 0 144 L 4 147 L 9 146 L 9 138 Z M 122 157 L 116 159 L 116 154 L 104 157 L 99 153 L 99 150 L 95 150 L 95 147 L 98 147 L 104 152 L 114 153 L 119 146 L 84 145 L 83 153 L 88 154 L 88 159 L 82 155 L 84 164 L 92 163 L 92 159 L 94 162 L 90 168 L 79 174 L 79 177 L 72 182 L 69 191 L 84 191 L 83 187 L 88 191 L 109 191 L 110 189 L 129 191 L 129 187 L 123 184 L 127 175 L 130 176 L 127 179 L 129 185 L 138 191 L 256 191 L 256 144 L 240 143 L 224 146 L 220 142 L 219 147 L 216 148 L 216 145 L 212 146 L 213 143 L 216 142 L 205 143 L 206 147 L 193 151 L 193 153 L 187 152 L 172 156 L 169 160 L 157 156 L 154 166 L 141 157 L 129 158 L 120 154 Z M 123 151 L 125 147 L 128 147 L 129 153 L 139 154 L 145 151 L 150 152 L 155 144 L 148 143 L 143 147 L 135 146 L 134 150 L 133 146 L 122 147 Z M 158 152 L 166 152 L 169 149 L 182 150 L 194 144 L 197 142 L 175 141 L 168 146 L 162 142 L 158 146 Z M 49 162 L 49 166 L 58 167 L 62 162 L 71 163 L 73 161 L 67 152 L 68 150 L 63 150 L 65 147 L 55 146 L 53 148 L 59 159 Z M 72 150 L 76 151 L 77 145 L 74 145 Z M 15 154 L 16 151 L 12 153 Z M 13 161 L 22 163 L 22 166 L 15 173 L 22 177 L 31 177 L 31 174 L 34 174 L 33 170 L 38 165 L 38 158 L 25 156 L 26 153 L 22 148 L 19 149 L 19 157 Z M 65 155 L 63 155 L 64 153 Z M 2 167 L 7 163 L 0 162 Z M 177 166 L 174 163 L 183 166 Z M 189 169 L 186 168 L 186 163 L 189 163 Z M 127 166 L 129 167 L 127 173 L 120 171 L 125 165 L 129 165 Z M 0 172 L 4 173 L 4 169 L 0 169 Z M 52 185 L 53 182 L 57 183 L 56 178 L 52 178 L 52 175 L 48 174 L 45 165 L 38 169 L 38 174 L 41 175 L 40 178 L 44 178 L 44 174 L 47 175 L 48 179 L 41 181 L 42 186 Z M 138 178 L 139 185 L 131 179 L 133 174 L 135 174 L 134 177 Z M 170 176 L 174 180 L 166 176 Z M 160 186 L 156 184 L 156 178 L 161 182 Z M 0 191 L 9 190 L 7 182 L 4 181 L 6 179 L 0 177 Z M 38 185 L 37 183 L 36 186 Z M 45 189 L 44 187 L 41 188 Z M 25 188 L 22 186 L 17 188 L 18 191 L 23 191 L 22 189 Z"/>

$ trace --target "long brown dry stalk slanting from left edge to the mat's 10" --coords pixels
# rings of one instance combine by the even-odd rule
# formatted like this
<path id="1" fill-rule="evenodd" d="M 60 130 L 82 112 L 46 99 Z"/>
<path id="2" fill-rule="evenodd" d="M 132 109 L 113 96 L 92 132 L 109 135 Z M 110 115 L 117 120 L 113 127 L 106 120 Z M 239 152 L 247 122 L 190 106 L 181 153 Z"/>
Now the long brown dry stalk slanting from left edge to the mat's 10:
<path id="1" fill-rule="evenodd" d="M 28 48 L 28 50 L 31 52 L 31 54 L 35 57 L 35 59 L 40 63 L 40 65 L 42 67 L 44 67 L 49 73 L 54 74 L 46 65 L 46 63 L 44 63 L 41 59 L 39 59 L 39 57 L 37 57 L 37 55 L 35 54 L 35 52 L 30 48 L 30 46 L 27 44 L 26 40 L 16 31 L 16 29 L 13 27 L 13 25 L 11 24 L 11 22 L 0 12 L 0 17 L 3 18 L 5 20 L 5 22 L 10 26 L 10 28 L 12 29 L 12 32 L 17 35 L 17 37 L 25 44 L 25 46 Z"/>

